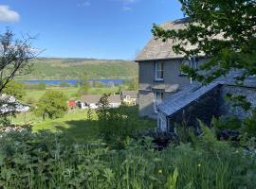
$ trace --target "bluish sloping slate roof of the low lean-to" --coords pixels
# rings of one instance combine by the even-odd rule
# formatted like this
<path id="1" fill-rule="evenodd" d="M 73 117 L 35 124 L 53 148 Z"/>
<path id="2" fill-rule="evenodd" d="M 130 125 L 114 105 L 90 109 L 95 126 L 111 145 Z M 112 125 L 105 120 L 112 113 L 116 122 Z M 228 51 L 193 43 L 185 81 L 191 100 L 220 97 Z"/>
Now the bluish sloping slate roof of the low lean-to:
<path id="1" fill-rule="evenodd" d="M 202 85 L 199 82 L 193 82 L 192 84 L 184 87 L 181 91 L 176 94 L 172 94 L 166 100 L 164 100 L 158 107 L 159 112 L 164 113 L 166 116 L 171 116 L 175 112 L 190 105 L 193 101 L 196 101 L 204 94 L 210 92 L 219 85 L 237 85 L 235 78 L 240 76 L 242 72 L 231 72 L 227 77 L 220 77 L 212 81 L 208 85 Z M 247 77 L 244 87 L 256 88 L 256 77 Z"/>

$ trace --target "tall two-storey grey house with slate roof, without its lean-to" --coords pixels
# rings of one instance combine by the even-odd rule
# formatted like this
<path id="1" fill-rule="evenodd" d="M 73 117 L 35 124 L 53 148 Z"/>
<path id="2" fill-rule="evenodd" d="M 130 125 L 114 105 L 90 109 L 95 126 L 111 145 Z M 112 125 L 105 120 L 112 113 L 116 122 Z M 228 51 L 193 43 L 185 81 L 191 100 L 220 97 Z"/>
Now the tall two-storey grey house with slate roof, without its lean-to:
<path id="1" fill-rule="evenodd" d="M 161 26 L 165 29 L 180 29 L 186 27 L 187 22 L 185 18 Z M 176 43 L 173 40 L 163 43 L 161 39 L 153 37 L 137 56 L 140 116 L 156 119 L 157 106 L 164 99 L 192 83 L 190 78 L 180 72 L 181 64 L 196 68 L 204 61 L 204 58 L 185 60 L 184 55 L 174 53 L 172 46 Z"/>

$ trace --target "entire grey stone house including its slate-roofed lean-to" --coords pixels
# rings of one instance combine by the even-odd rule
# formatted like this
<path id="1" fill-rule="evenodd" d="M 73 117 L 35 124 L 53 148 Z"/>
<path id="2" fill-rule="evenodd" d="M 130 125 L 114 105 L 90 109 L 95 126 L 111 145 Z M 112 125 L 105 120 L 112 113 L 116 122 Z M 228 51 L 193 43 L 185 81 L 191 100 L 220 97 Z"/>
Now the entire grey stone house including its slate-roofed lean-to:
<path id="1" fill-rule="evenodd" d="M 164 29 L 186 27 L 187 19 L 179 19 L 161 25 Z M 220 38 L 221 36 L 217 36 Z M 210 124 L 212 116 L 237 115 L 246 117 L 250 112 L 233 109 L 225 100 L 226 94 L 242 94 L 256 107 L 256 78 L 248 77 L 244 85 L 237 85 L 234 77 L 241 71 L 233 71 L 209 85 L 202 86 L 180 71 L 182 64 L 197 68 L 205 62 L 203 55 L 186 60 L 175 54 L 175 42 L 152 38 L 137 56 L 139 115 L 157 119 L 157 129 L 172 131 L 174 123 L 185 121 L 188 126 L 197 126 L 197 118 Z M 186 46 L 192 49 L 192 46 Z"/>

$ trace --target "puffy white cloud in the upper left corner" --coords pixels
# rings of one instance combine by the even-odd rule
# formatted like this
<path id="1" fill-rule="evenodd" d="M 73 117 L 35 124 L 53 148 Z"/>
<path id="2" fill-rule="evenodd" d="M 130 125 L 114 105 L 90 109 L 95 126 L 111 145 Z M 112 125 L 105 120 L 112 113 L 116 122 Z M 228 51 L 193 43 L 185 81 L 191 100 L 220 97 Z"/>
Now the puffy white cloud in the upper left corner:
<path id="1" fill-rule="evenodd" d="M 0 5 L 0 22 L 13 23 L 20 20 L 18 12 L 9 9 L 9 6 Z"/>

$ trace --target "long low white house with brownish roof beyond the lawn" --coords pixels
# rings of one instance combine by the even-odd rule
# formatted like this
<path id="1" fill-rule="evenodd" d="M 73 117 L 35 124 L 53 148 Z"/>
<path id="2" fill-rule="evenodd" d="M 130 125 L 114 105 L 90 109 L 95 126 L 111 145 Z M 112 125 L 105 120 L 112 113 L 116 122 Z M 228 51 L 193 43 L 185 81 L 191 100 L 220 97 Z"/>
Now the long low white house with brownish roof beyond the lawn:
<path id="1" fill-rule="evenodd" d="M 101 99 L 101 94 L 88 94 L 82 95 L 81 98 L 81 108 L 82 109 L 98 109 L 99 108 L 99 101 Z M 110 95 L 108 97 L 109 107 L 110 108 L 119 108 L 121 105 L 121 98 L 120 95 Z"/>

